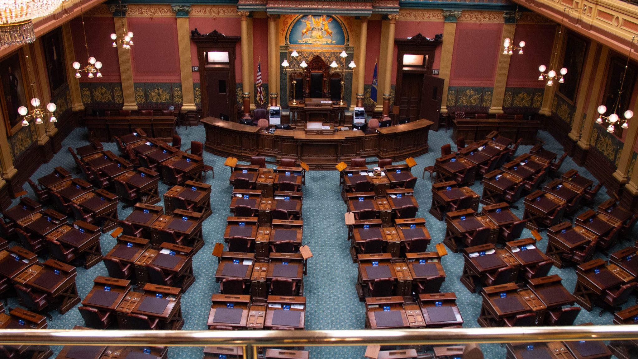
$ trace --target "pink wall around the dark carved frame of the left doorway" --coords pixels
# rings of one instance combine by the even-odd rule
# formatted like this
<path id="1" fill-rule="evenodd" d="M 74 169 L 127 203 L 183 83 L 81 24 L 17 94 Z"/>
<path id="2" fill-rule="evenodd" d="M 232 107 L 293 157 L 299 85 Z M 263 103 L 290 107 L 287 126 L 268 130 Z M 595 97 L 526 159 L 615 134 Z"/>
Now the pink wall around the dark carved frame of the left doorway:
<path id="1" fill-rule="evenodd" d="M 239 17 L 188 18 L 190 29 L 194 30 L 197 27 L 197 31 L 199 31 L 200 34 L 207 34 L 213 30 L 217 30 L 219 33 L 228 36 L 240 36 L 241 29 L 239 22 Z M 197 47 L 195 46 L 195 43 L 193 43 L 193 41 L 191 41 L 191 61 L 193 62 L 193 66 L 199 66 L 199 60 L 197 58 Z M 193 72 L 193 81 L 200 82 L 198 72 Z M 237 47 L 235 47 L 235 81 L 237 83 L 241 82 L 241 41 L 238 41 Z"/>

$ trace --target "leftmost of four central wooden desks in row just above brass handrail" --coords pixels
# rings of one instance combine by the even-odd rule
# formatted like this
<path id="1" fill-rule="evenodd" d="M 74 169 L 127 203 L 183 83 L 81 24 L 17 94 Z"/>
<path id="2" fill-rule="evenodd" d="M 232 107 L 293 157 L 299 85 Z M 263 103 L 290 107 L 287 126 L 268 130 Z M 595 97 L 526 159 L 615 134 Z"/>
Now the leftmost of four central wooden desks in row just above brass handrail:
<path id="1" fill-rule="evenodd" d="M 250 308 L 249 295 L 214 294 L 211 302 L 211 310 L 206 323 L 209 329 L 216 329 L 216 326 L 230 326 L 234 329 L 246 328 Z"/>

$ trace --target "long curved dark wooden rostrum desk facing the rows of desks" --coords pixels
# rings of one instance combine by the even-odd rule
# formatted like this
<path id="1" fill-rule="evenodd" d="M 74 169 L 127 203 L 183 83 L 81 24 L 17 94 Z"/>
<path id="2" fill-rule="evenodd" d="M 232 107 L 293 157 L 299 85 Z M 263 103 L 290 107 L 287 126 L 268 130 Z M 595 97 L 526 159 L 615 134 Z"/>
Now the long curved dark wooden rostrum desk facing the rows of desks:
<path id="1" fill-rule="evenodd" d="M 255 126 L 222 121 L 215 117 L 201 120 L 206 129 L 206 150 L 219 156 L 248 161 L 251 156 L 295 158 L 315 170 L 332 170 L 341 161 L 377 156 L 403 160 L 427 153 L 427 135 L 433 122 L 418 121 L 379 128 L 378 133 L 337 131 L 329 135 L 307 134 L 303 129 L 277 129 L 267 133 Z"/>

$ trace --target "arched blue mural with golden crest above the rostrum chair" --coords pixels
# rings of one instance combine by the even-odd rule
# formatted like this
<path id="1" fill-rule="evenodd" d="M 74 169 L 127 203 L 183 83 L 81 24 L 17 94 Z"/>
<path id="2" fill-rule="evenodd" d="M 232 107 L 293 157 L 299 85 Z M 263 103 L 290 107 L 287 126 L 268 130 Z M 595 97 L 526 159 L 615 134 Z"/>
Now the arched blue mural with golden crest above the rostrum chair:
<path id="1" fill-rule="evenodd" d="M 341 19 L 330 15 L 300 15 L 286 32 L 286 45 L 348 46 L 349 42 Z"/>

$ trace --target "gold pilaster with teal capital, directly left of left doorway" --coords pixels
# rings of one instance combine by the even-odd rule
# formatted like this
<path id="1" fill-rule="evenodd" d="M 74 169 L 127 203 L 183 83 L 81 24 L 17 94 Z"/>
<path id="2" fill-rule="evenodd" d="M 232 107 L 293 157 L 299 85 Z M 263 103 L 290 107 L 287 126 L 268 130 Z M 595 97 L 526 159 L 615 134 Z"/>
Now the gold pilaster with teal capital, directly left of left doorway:
<path id="1" fill-rule="evenodd" d="M 188 22 L 189 5 L 173 5 L 177 21 L 177 47 L 179 48 L 179 74 L 182 79 L 182 110 L 195 111 L 195 89 L 193 89 L 193 63 L 191 62 L 191 30 Z"/>

